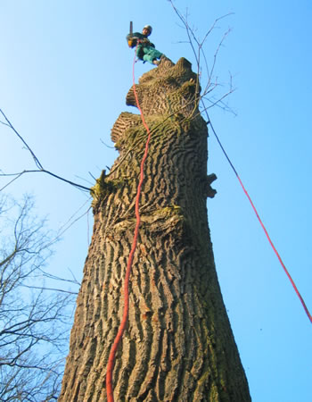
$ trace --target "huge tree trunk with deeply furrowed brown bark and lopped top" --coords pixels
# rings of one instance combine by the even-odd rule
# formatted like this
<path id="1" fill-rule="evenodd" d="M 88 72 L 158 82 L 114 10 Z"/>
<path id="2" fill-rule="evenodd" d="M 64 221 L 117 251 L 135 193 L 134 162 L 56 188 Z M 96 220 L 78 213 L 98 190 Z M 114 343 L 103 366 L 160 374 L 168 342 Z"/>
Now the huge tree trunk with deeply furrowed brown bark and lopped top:
<path id="1" fill-rule="evenodd" d="M 191 64 L 168 59 L 136 86 L 152 130 L 127 330 L 113 374 L 116 401 L 250 401 L 218 285 L 209 227 L 206 122 Z M 135 106 L 134 91 L 127 105 Z M 60 401 L 105 401 L 105 373 L 123 308 L 146 140 L 141 117 L 111 130 L 119 158 L 94 187 L 94 234 L 78 295 Z"/>

